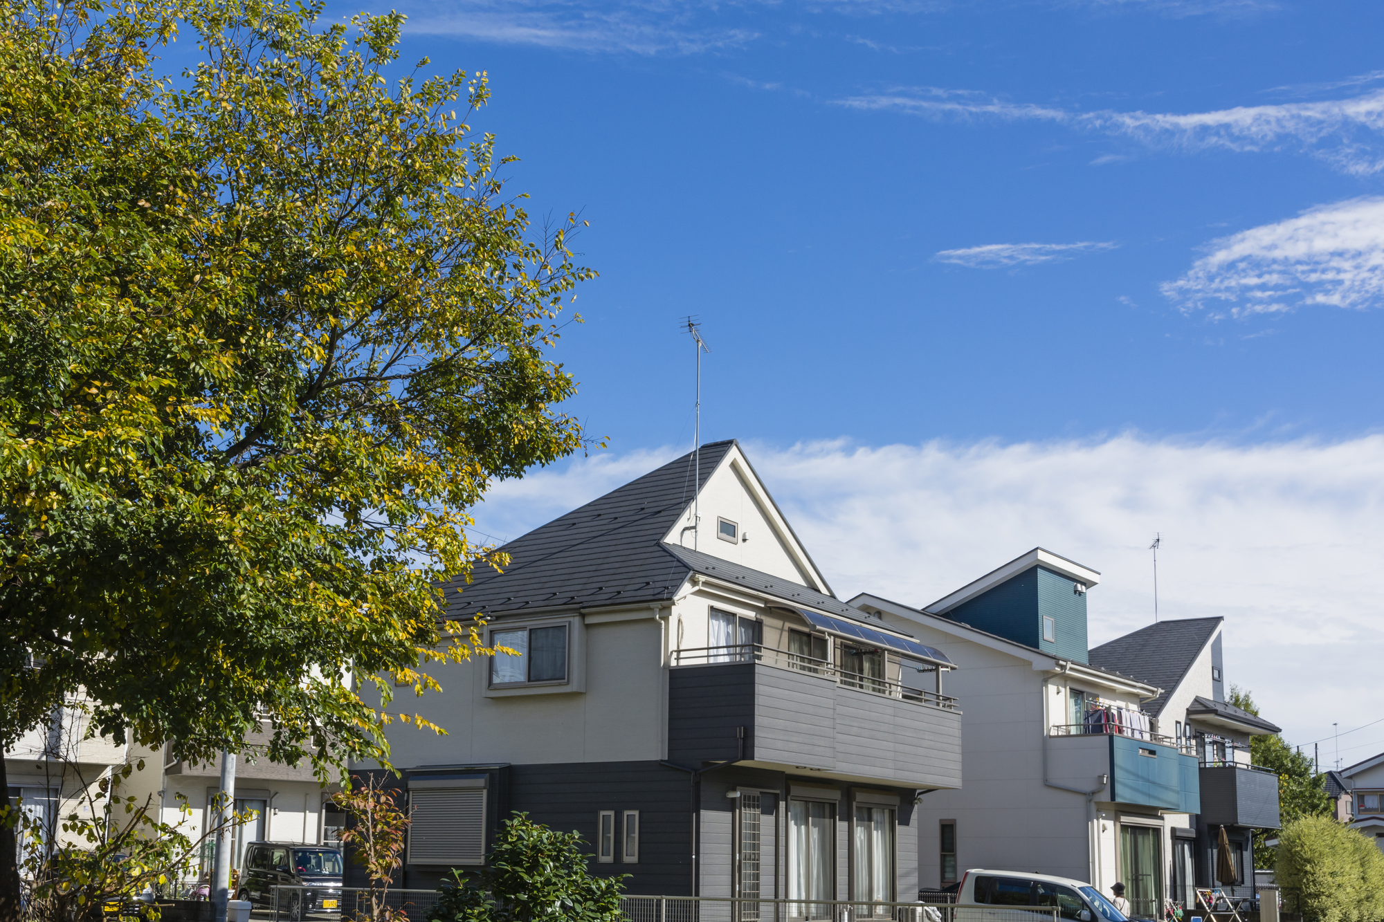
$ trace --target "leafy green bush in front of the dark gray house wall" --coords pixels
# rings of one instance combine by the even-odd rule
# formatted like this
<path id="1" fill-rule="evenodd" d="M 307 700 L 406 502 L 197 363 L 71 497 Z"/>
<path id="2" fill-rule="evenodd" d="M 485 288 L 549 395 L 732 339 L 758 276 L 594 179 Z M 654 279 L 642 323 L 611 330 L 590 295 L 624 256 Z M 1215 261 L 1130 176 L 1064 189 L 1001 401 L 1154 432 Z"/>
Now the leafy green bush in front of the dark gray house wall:
<path id="1" fill-rule="evenodd" d="M 555 832 L 516 813 L 501 828 L 489 865 L 453 869 L 429 922 L 620 922 L 628 875 L 592 876 L 576 832 Z"/>

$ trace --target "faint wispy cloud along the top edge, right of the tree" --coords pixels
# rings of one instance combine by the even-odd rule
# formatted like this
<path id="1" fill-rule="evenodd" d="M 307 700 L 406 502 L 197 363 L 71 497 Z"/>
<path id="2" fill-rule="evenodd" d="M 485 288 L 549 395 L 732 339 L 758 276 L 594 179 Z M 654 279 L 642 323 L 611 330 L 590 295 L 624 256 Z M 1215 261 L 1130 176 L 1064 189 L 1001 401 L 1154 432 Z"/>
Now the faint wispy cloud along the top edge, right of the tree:
<path id="1" fill-rule="evenodd" d="M 555 3 L 466 3 L 419 8 L 408 30 L 498 44 L 641 55 L 700 54 L 746 44 L 752 29 L 707 26 L 689 12 L 646 6 L 597 7 Z"/>

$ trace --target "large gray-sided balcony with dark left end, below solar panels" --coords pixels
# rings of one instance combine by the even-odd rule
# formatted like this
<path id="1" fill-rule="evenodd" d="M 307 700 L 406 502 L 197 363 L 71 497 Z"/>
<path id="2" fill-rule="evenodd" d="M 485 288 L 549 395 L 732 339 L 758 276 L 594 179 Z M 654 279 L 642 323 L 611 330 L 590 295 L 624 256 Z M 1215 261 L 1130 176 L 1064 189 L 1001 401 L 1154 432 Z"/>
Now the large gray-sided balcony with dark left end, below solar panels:
<path id="1" fill-rule="evenodd" d="M 678 651 L 668 759 L 959 788 L 960 710 L 934 689 L 757 644 Z"/>

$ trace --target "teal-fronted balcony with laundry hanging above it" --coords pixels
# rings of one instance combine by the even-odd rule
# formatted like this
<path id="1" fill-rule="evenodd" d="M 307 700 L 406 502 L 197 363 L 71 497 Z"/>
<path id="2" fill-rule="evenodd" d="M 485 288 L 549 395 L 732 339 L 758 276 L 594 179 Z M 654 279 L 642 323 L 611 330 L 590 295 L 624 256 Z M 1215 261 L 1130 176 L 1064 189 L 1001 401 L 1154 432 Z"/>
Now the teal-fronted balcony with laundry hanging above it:
<path id="1" fill-rule="evenodd" d="M 1102 800 L 1200 813 L 1197 759 L 1178 741 L 1146 730 L 1066 724 L 1049 732 L 1048 774 L 1056 784 L 1093 786 L 1109 775 Z"/>

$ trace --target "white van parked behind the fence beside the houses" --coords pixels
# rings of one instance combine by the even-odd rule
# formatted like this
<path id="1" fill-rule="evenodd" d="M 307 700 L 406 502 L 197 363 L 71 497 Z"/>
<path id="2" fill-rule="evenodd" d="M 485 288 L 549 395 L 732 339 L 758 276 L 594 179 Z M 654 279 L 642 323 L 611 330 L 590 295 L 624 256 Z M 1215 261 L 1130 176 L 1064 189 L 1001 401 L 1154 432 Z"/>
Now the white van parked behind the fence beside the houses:
<path id="1" fill-rule="evenodd" d="M 956 887 L 956 922 L 1128 922 L 1089 883 L 1027 871 L 967 871 Z"/>

